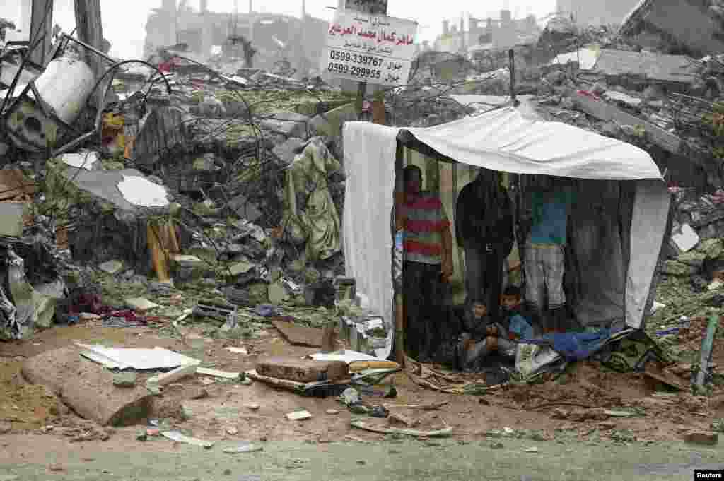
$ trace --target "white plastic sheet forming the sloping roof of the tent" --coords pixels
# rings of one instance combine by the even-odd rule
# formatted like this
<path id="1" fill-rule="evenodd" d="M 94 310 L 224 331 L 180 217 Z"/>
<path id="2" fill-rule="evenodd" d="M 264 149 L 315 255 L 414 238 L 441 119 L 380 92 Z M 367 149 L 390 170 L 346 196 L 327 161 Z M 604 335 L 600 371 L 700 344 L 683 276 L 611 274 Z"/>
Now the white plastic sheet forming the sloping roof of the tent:
<path id="1" fill-rule="evenodd" d="M 635 145 L 568 124 L 545 122 L 536 119 L 531 111 L 523 111 L 525 103 L 521 108 L 500 108 L 436 127 L 405 130 L 455 161 L 512 174 L 662 179 L 651 156 Z M 360 128 L 364 127 L 358 122 L 349 122 L 345 132 Z M 346 145 L 345 159 L 354 155 Z"/>

